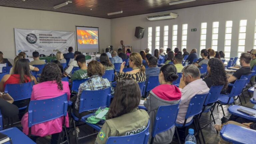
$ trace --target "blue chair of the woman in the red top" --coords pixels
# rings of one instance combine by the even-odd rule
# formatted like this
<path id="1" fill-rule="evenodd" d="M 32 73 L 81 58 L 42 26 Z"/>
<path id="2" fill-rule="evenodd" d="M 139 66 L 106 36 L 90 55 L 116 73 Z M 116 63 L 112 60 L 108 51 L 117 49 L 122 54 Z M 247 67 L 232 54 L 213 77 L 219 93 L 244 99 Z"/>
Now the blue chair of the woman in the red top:
<path id="1" fill-rule="evenodd" d="M 32 92 L 31 82 L 22 83 L 22 84 L 6 84 L 4 92 L 12 96 L 14 101 L 29 99 Z M 20 107 L 19 110 L 25 109 L 25 107 Z"/>

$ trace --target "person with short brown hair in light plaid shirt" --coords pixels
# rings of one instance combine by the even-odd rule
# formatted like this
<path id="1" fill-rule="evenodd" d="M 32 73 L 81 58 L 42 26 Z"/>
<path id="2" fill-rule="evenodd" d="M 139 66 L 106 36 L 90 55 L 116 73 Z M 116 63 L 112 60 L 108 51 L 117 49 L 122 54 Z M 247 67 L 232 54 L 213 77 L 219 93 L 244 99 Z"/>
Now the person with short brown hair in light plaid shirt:
<path id="1" fill-rule="evenodd" d="M 73 113 L 76 117 L 79 117 L 79 105 L 81 93 L 84 90 L 101 90 L 110 87 L 110 82 L 106 78 L 102 78 L 105 72 L 104 66 L 98 61 L 91 61 L 88 64 L 87 76 L 89 80 L 80 84 L 77 95 L 73 96 L 70 101 L 73 102 Z M 81 116 L 88 114 L 87 112 L 82 113 Z"/>

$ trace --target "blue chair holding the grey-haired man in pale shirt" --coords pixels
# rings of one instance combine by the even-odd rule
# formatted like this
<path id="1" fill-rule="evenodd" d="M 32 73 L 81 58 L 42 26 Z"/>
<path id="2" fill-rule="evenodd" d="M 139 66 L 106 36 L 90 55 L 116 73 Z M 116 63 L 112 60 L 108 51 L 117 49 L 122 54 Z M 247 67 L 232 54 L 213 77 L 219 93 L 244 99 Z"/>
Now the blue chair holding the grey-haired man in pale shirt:
<path id="1" fill-rule="evenodd" d="M 191 98 L 191 100 L 189 102 L 187 113 L 185 115 L 184 123 L 183 124 L 179 124 L 177 122 L 175 123 L 175 126 L 178 127 L 178 128 L 186 127 L 185 132 L 187 133 L 187 131 L 188 131 L 187 126 L 191 125 L 192 122 L 194 122 L 196 131 L 201 132 L 201 136 L 203 138 L 204 143 L 205 143 L 205 140 L 204 140 L 204 136 L 203 136 L 203 132 L 202 132 L 202 129 L 201 129 L 200 120 L 199 120 L 198 115 L 202 112 L 203 104 L 205 102 L 205 99 L 206 99 L 207 95 L 208 95 L 208 93 L 198 94 L 198 95 L 193 96 L 193 98 Z M 189 117 L 193 117 L 193 119 L 190 122 L 187 123 L 187 119 Z M 177 133 L 177 135 L 178 135 L 178 140 L 179 140 L 179 133 Z M 198 137 L 199 142 L 201 143 L 199 134 L 197 135 L 197 137 Z M 181 144 L 180 140 L 179 140 L 179 143 Z"/>

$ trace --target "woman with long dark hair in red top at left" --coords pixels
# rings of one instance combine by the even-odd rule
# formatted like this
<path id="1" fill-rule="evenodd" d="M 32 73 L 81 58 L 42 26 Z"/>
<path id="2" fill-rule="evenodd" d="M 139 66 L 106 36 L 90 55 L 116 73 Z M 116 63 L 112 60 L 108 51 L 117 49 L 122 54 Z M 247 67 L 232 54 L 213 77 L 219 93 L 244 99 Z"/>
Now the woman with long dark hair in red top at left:
<path id="1" fill-rule="evenodd" d="M 0 81 L 0 91 L 4 92 L 6 84 L 19 84 L 31 81 L 34 81 L 34 84 L 37 84 L 36 78 L 30 74 L 28 61 L 26 59 L 19 59 L 14 65 L 13 74 L 4 75 Z M 27 106 L 29 104 L 29 100 L 25 99 L 15 101 L 13 104 L 20 108 Z"/>

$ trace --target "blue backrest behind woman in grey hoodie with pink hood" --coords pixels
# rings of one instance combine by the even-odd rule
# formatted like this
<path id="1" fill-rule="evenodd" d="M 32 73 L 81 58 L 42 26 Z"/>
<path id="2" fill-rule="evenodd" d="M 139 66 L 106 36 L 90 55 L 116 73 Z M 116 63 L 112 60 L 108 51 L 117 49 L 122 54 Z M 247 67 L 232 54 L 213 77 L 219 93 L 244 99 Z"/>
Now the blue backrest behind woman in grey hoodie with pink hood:
<path id="1" fill-rule="evenodd" d="M 152 129 L 152 137 L 174 126 L 179 111 L 179 104 L 180 102 L 174 105 L 158 107 Z"/>

